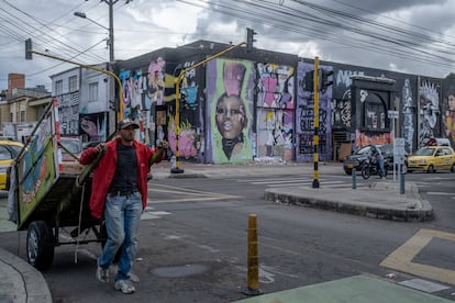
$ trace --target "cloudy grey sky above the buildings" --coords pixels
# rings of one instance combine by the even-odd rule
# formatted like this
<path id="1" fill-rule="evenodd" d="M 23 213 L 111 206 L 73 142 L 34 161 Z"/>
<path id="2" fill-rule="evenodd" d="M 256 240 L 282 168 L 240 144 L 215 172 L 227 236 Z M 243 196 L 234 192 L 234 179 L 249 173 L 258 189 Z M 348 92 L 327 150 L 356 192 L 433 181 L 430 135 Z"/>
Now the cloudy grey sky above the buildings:
<path id="1" fill-rule="evenodd" d="M 38 55 L 25 60 L 29 37 L 37 52 L 107 61 L 109 2 L 115 59 L 197 40 L 237 44 L 252 27 L 258 48 L 440 78 L 455 72 L 455 0 L 0 0 L 0 90 L 10 72 L 49 89 L 51 75 L 74 67 Z"/>

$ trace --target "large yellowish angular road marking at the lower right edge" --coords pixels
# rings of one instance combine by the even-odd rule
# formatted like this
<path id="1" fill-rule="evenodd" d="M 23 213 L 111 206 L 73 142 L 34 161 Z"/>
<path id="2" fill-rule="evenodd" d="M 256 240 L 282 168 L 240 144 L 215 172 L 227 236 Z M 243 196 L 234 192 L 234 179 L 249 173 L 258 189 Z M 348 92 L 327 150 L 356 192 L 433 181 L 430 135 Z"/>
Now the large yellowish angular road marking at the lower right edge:
<path id="1" fill-rule="evenodd" d="M 380 266 L 455 285 L 454 270 L 412 261 L 432 238 L 443 238 L 455 242 L 455 234 L 422 228 L 402 246 L 392 251 L 382 262 L 380 262 Z"/>

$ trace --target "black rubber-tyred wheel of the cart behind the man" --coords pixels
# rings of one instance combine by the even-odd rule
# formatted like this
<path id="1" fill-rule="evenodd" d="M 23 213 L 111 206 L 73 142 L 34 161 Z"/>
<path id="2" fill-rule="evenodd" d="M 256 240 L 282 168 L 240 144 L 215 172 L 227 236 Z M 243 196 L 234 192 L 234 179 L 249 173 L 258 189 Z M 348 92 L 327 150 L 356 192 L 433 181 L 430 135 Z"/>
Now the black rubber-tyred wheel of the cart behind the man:
<path id="1" fill-rule="evenodd" d="M 54 234 L 44 221 L 34 221 L 29 226 L 26 257 L 38 270 L 49 268 L 54 260 Z"/>

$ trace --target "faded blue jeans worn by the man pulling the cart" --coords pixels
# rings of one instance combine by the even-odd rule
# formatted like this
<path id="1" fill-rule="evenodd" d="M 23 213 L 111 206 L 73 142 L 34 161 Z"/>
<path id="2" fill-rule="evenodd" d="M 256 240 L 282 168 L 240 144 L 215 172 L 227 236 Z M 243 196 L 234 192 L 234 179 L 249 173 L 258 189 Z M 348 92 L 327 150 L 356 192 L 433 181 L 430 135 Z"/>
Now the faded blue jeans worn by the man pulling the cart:
<path id="1" fill-rule="evenodd" d="M 140 192 L 130 195 L 108 194 L 104 206 L 108 240 L 98 266 L 109 269 L 115 254 L 122 249 L 115 281 L 130 279 L 130 270 L 137 252 L 137 233 L 142 214 Z"/>

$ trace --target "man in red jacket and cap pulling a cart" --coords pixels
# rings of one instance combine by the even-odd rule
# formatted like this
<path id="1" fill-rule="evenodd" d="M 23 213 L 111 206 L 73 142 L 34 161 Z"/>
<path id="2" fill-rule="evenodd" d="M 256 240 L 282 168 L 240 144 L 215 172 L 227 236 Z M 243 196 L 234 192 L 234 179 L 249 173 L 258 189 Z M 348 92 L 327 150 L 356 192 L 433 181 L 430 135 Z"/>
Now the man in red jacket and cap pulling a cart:
<path id="1" fill-rule="evenodd" d="M 137 252 L 137 233 L 141 214 L 147 203 L 147 172 L 154 162 L 160 161 L 168 147 L 162 142 L 157 149 L 134 139 L 138 124 L 131 121 L 119 123 L 119 136 L 82 152 L 79 162 L 91 164 L 104 153 L 93 171 L 90 211 L 93 217 L 104 214 L 108 240 L 97 263 L 97 278 L 109 280 L 109 267 L 121 249 L 114 289 L 133 293 L 130 270 Z"/>

